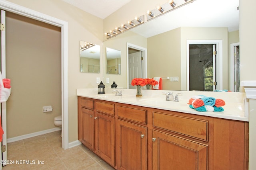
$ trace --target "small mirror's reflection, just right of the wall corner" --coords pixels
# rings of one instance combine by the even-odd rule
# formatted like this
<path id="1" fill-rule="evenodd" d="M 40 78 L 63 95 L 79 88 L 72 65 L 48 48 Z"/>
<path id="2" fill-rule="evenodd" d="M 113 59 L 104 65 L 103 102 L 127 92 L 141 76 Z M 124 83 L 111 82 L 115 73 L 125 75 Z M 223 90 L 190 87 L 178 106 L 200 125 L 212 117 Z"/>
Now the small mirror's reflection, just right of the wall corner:
<path id="1" fill-rule="evenodd" d="M 121 74 L 121 51 L 106 47 L 107 74 Z"/>

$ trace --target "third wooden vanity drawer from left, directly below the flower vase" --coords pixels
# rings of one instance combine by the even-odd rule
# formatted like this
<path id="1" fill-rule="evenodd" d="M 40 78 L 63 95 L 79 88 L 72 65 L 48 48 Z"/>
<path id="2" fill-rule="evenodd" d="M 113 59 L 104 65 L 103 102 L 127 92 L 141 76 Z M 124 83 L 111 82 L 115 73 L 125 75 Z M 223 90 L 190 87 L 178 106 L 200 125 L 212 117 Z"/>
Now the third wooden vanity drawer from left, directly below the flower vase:
<path id="1" fill-rule="evenodd" d="M 132 107 L 117 106 L 118 117 L 147 124 L 147 110 Z"/>

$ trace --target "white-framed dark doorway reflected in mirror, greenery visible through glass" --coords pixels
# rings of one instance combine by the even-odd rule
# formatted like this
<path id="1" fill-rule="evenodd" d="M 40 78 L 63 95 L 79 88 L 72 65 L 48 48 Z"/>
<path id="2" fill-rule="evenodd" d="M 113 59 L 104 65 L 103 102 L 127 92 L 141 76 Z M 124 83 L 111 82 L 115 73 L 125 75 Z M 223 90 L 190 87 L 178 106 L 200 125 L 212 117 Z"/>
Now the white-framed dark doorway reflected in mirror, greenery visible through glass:
<path id="1" fill-rule="evenodd" d="M 222 89 L 222 40 L 187 40 L 187 90 Z"/>

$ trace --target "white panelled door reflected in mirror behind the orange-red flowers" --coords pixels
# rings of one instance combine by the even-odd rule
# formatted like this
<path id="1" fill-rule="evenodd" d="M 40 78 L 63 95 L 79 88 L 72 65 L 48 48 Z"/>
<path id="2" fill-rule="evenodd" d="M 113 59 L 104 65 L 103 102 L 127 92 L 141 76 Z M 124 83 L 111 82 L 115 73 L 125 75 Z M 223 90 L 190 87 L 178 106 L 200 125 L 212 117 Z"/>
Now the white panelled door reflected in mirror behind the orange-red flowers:
<path id="1" fill-rule="evenodd" d="M 129 54 L 128 56 L 128 71 L 129 71 L 129 89 L 135 89 L 135 86 L 131 85 L 133 78 L 142 78 L 142 53 L 138 51 L 136 53 Z"/>

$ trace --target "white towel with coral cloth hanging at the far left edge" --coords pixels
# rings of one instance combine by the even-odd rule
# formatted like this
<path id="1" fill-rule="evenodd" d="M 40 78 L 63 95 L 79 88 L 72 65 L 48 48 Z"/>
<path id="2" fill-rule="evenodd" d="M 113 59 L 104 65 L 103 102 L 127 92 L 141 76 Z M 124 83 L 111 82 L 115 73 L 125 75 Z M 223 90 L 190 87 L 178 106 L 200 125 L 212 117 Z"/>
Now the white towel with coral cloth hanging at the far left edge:
<path id="1" fill-rule="evenodd" d="M 5 86 L 4 86 L 4 82 Z M 0 103 L 6 102 L 11 94 L 10 79 L 2 79 L 2 73 L 0 72 Z"/>

